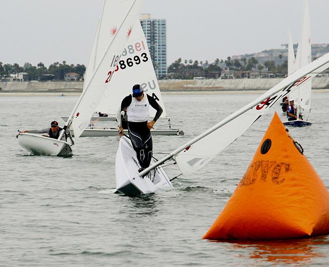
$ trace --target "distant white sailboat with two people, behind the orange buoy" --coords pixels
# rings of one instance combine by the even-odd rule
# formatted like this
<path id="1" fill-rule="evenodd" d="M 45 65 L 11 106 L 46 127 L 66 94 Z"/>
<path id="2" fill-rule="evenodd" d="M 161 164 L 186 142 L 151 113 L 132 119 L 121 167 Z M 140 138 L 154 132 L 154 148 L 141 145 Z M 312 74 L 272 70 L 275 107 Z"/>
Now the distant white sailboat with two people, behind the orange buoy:
<path id="1" fill-rule="evenodd" d="M 303 22 L 301 39 L 298 44 L 298 50 L 296 55 L 296 63 L 288 51 L 288 75 L 290 72 L 294 72 L 300 69 L 312 61 L 311 54 L 311 26 L 310 26 L 310 14 L 309 14 L 309 4 L 308 0 L 304 0 L 304 11 L 303 11 Z M 290 46 L 290 44 L 289 44 Z M 308 121 L 311 112 L 311 92 L 312 92 L 312 81 L 304 84 L 301 88 L 296 90 L 294 93 L 289 95 L 295 100 L 295 105 L 297 106 L 297 120 L 284 122 L 285 126 L 310 126 L 311 122 Z"/>

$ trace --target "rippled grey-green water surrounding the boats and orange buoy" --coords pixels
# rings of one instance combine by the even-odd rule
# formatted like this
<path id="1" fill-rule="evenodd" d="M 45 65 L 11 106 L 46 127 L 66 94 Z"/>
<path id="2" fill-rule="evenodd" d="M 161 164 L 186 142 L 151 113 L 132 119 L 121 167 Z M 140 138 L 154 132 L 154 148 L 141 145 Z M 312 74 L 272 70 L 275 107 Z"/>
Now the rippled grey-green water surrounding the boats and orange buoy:
<path id="1" fill-rule="evenodd" d="M 165 95 L 172 127 L 186 135 L 153 136 L 155 155 L 162 157 L 257 96 Z M 114 194 L 118 137 L 80 138 L 70 158 L 29 156 L 18 145 L 17 130 L 44 128 L 52 120 L 62 126 L 60 116 L 68 116 L 77 99 L 0 95 L 1 267 L 329 265 L 329 236 L 201 240 L 246 171 L 274 111 L 206 167 L 176 179 L 173 188 L 131 198 Z M 329 94 L 315 92 L 312 101 L 314 125 L 290 133 L 329 187 Z M 174 166 L 166 170 L 171 177 L 179 174 Z"/>

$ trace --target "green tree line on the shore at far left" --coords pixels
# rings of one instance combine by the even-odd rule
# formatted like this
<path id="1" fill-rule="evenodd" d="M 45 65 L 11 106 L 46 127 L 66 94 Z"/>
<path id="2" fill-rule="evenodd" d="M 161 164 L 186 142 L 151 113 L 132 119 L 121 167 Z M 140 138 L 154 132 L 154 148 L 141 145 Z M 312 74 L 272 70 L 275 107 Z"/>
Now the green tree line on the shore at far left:
<path id="1" fill-rule="evenodd" d="M 66 64 L 66 61 L 62 63 L 54 62 L 48 68 L 42 63 L 39 62 L 36 66 L 25 62 L 23 66 L 19 66 L 17 63 L 14 64 L 3 64 L 0 62 L 0 80 L 5 77 L 8 77 L 10 74 L 16 74 L 19 72 L 27 73 L 27 80 L 36 80 L 36 78 L 41 74 L 51 74 L 54 75 L 54 80 L 64 80 L 64 75 L 69 72 L 76 72 L 81 77 L 86 71 L 85 65 L 74 65 Z"/>

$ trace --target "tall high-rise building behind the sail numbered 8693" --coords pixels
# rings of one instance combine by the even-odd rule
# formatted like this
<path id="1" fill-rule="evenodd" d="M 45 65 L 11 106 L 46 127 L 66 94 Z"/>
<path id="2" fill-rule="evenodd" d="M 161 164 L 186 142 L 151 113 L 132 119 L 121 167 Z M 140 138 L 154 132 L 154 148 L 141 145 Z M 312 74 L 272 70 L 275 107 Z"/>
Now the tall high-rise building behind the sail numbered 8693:
<path id="1" fill-rule="evenodd" d="M 157 77 L 165 78 L 167 76 L 166 21 L 151 18 L 151 14 L 142 14 L 141 25 Z"/>

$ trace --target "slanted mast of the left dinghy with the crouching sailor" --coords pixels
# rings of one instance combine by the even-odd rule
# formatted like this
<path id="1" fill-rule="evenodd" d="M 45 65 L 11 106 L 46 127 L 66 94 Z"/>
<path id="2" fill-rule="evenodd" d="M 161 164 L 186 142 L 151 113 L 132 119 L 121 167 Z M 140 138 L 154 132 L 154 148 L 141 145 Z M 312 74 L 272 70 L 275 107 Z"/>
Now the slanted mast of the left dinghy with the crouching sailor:
<path id="1" fill-rule="evenodd" d="M 119 31 L 119 30 L 121 29 L 122 25 L 124 24 L 126 18 L 128 17 L 128 15 L 129 15 L 130 11 L 132 10 L 133 6 L 135 5 L 136 1 L 137 1 L 137 0 L 134 0 L 133 3 L 131 4 L 130 8 L 128 9 L 128 11 L 127 11 L 127 13 L 126 13 L 126 15 L 125 15 L 125 17 L 124 17 L 123 20 L 121 21 L 121 23 L 120 23 L 120 25 L 119 25 L 117 31 Z M 107 52 L 109 51 L 109 49 L 110 49 L 110 47 L 112 46 L 112 43 L 113 43 L 113 41 L 116 39 L 116 37 L 117 37 L 117 34 L 114 35 L 113 39 L 111 40 L 111 42 L 109 43 L 108 47 L 106 48 L 106 50 L 105 50 L 105 52 L 104 52 L 102 58 L 100 59 L 100 61 L 99 61 L 99 63 L 97 64 L 96 68 L 94 69 L 93 74 L 91 75 L 91 78 L 90 78 L 90 80 L 88 81 L 87 86 L 84 88 L 82 94 L 80 95 L 80 98 L 78 99 L 77 103 L 75 104 L 75 106 L 74 106 L 74 108 L 73 108 L 73 110 L 72 110 L 72 112 L 71 112 L 71 114 L 70 114 L 70 116 L 69 116 L 67 122 L 65 123 L 65 126 L 63 127 L 63 130 L 64 130 L 64 131 L 61 132 L 61 134 L 60 134 L 59 137 L 58 137 L 58 140 L 60 140 L 60 139 L 63 137 L 63 134 L 64 134 L 64 132 L 66 131 L 66 129 L 70 127 L 71 122 L 72 122 L 72 118 L 73 118 L 73 116 L 74 116 L 74 114 L 75 114 L 75 112 L 76 112 L 76 110 L 77 110 L 79 104 L 81 103 L 81 101 L 82 101 L 84 95 L 86 94 L 86 92 L 87 92 L 87 90 L 88 90 L 88 88 L 89 88 L 89 86 L 90 86 L 92 80 L 94 79 L 94 77 L 95 77 L 95 75 L 96 75 L 96 73 L 97 73 L 99 67 L 101 66 L 101 64 L 102 64 L 102 62 L 103 62 L 103 60 L 104 60 L 104 58 L 105 58 Z"/>

